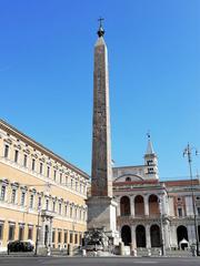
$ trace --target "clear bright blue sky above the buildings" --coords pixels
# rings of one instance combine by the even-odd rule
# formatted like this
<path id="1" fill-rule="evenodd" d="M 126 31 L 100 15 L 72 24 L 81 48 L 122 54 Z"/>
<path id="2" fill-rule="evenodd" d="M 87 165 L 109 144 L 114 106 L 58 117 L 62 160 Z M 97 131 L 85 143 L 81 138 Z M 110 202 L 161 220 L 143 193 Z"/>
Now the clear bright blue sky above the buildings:
<path id="1" fill-rule="evenodd" d="M 116 166 L 143 163 L 150 130 L 160 177 L 187 177 L 182 151 L 200 150 L 199 0 L 0 0 L 0 117 L 90 174 L 100 16 Z"/>

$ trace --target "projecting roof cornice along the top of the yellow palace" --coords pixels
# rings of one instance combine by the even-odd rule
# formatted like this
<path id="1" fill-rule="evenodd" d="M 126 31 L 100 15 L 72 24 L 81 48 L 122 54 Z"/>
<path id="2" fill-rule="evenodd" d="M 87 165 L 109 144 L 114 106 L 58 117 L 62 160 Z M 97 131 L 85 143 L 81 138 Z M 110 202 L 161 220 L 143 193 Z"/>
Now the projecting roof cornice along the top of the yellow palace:
<path id="1" fill-rule="evenodd" d="M 56 154 L 54 152 L 52 152 L 51 150 L 47 149 L 46 146 L 43 146 L 41 143 L 34 141 L 32 137 L 26 135 L 24 133 L 22 133 L 21 131 L 17 130 L 14 126 L 10 125 L 9 123 L 7 123 L 6 121 L 3 121 L 2 119 L 0 119 L 0 126 L 3 129 L 6 127 L 6 131 L 10 131 L 11 134 L 16 134 L 16 135 L 20 135 L 20 137 L 29 143 L 30 145 L 34 145 L 37 146 L 37 149 L 42 153 L 48 154 L 50 157 L 53 157 L 56 161 L 59 161 L 61 164 L 67 165 L 69 168 L 77 171 L 79 174 L 83 175 L 86 178 L 89 180 L 89 175 L 83 172 L 82 170 L 80 170 L 79 167 L 74 166 L 73 164 L 69 163 L 68 161 L 66 161 L 64 158 L 62 158 L 60 155 Z M 20 139 L 19 137 L 19 139 Z"/>

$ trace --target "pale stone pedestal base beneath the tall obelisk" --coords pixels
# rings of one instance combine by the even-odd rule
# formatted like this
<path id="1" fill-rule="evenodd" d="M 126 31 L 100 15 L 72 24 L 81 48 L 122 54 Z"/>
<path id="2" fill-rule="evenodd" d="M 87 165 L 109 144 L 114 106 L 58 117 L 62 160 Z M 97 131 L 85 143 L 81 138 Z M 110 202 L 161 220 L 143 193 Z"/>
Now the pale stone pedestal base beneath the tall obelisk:
<path id="1" fill-rule="evenodd" d="M 121 238 L 116 229 L 118 204 L 111 197 L 91 196 L 87 200 L 88 231 L 84 234 L 87 252 L 107 256 L 113 254 Z"/>

